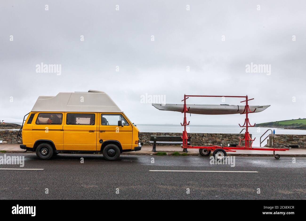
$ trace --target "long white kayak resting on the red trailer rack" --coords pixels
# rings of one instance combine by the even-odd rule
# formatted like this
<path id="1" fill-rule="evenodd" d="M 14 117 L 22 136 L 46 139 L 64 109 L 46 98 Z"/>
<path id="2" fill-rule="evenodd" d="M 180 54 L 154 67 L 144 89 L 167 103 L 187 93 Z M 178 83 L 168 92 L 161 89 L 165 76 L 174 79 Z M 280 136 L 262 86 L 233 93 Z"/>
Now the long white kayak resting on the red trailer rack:
<path id="1" fill-rule="evenodd" d="M 183 104 L 152 104 L 155 108 L 159 110 L 167 111 L 178 111 L 183 112 Z M 244 113 L 245 106 L 241 105 L 198 105 L 198 104 L 186 104 L 187 109 L 190 107 L 189 111 L 186 113 L 191 114 L 241 114 Z M 263 106 L 249 106 L 251 112 L 255 110 L 254 113 L 261 112 L 270 107 L 270 105 Z"/>

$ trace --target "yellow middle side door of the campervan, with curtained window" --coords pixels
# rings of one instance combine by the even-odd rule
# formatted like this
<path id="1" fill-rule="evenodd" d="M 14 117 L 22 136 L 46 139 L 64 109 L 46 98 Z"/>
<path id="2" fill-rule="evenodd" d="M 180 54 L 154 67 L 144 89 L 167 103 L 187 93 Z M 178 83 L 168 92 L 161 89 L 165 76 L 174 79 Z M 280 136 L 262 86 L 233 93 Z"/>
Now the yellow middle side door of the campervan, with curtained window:
<path id="1" fill-rule="evenodd" d="M 64 150 L 97 150 L 97 113 L 65 113 Z"/>

